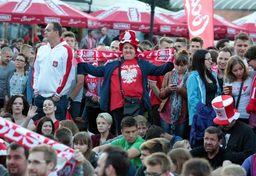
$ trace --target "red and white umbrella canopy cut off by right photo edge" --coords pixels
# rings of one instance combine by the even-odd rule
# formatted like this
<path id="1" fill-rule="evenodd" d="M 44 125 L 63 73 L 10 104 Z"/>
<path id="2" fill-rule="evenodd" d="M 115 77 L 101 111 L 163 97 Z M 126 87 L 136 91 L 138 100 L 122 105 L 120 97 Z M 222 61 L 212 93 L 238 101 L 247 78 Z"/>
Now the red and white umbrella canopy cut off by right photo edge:
<path id="1" fill-rule="evenodd" d="M 256 12 L 233 21 L 238 26 L 248 29 L 249 36 L 256 39 Z"/>

